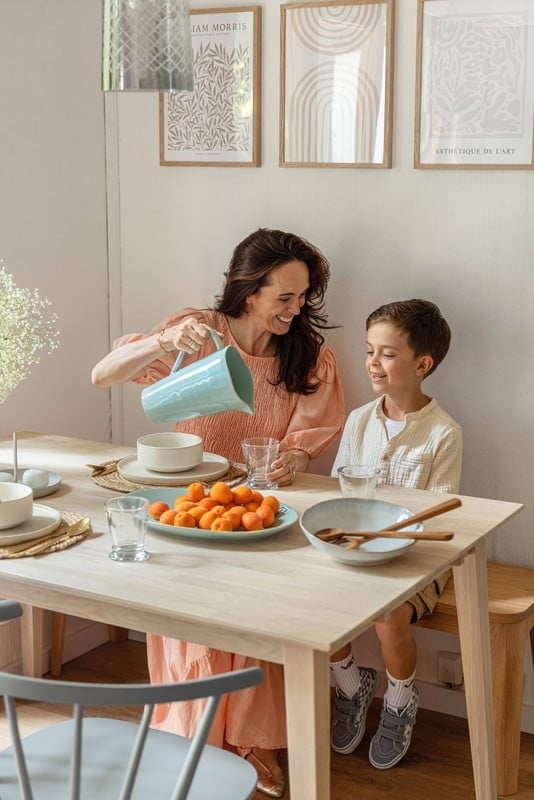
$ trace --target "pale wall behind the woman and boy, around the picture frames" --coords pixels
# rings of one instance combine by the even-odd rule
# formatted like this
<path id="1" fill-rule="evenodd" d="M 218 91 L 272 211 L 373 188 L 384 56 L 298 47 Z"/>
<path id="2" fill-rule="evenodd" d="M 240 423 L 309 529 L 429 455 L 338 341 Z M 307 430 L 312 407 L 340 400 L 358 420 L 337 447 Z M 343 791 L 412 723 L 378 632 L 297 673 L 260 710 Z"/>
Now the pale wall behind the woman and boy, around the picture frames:
<path id="1" fill-rule="evenodd" d="M 119 98 L 124 331 L 146 330 L 186 304 L 209 304 L 234 245 L 256 227 L 294 231 L 332 264 L 330 321 L 343 327 L 328 341 L 352 408 L 372 397 L 364 372 L 367 314 L 390 300 L 434 300 L 450 322 L 453 343 L 427 391 L 463 426 L 462 491 L 527 504 L 493 536 L 489 555 L 534 566 L 534 172 L 413 169 L 416 3 L 402 1 L 393 169 L 279 168 L 278 2 L 263 4 L 263 21 L 261 168 L 160 167 L 157 96 Z M 151 429 L 139 394 L 139 387 L 126 388 L 116 422 L 124 423 L 129 443 Z M 332 455 L 313 468 L 327 471 Z M 438 650 L 458 650 L 458 642 L 430 631 L 417 636 L 419 677 L 432 686 Z M 372 634 L 361 646 L 379 663 Z M 525 669 L 532 712 L 530 656 Z M 426 700 L 440 706 L 437 692 Z M 447 708 L 453 705 L 447 701 Z"/>

